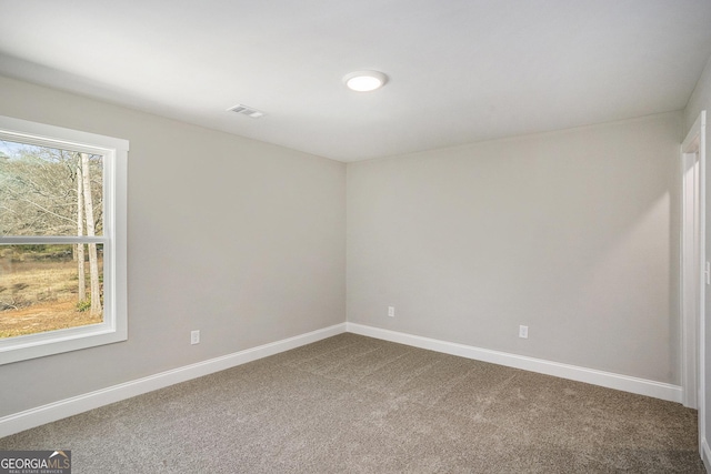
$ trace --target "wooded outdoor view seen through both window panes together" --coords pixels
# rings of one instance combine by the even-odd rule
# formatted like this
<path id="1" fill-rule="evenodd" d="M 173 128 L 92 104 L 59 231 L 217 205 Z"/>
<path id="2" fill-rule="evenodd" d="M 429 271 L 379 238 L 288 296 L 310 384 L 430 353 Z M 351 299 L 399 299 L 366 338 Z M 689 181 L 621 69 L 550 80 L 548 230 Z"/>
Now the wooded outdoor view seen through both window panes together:
<path id="1" fill-rule="evenodd" d="M 0 141 L 0 235 L 58 238 L 0 245 L 0 337 L 102 321 L 102 155 Z"/>

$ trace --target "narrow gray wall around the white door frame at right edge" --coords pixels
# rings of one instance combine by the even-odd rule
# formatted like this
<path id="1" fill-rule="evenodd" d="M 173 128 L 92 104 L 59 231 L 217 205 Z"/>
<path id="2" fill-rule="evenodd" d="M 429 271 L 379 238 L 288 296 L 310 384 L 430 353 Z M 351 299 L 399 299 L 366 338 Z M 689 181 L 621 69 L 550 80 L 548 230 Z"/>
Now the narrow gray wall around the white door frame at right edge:
<path id="1" fill-rule="evenodd" d="M 691 130 L 699 113 L 707 111 L 707 241 L 705 253 L 707 260 L 711 260 L 711 58 L 707 62 L 707 67 L 697 83 L 697 88 L 684 110 L 684 137 Z M 705 292 L 705 329 L 703 335 L 707 354 L 711 354 L 711 291 L 707 286 Z M 711 360 L 707 355 L 705 364 L 705 420 L 702 421 L 705 426 L 707 437 L 711 435 Z"/>

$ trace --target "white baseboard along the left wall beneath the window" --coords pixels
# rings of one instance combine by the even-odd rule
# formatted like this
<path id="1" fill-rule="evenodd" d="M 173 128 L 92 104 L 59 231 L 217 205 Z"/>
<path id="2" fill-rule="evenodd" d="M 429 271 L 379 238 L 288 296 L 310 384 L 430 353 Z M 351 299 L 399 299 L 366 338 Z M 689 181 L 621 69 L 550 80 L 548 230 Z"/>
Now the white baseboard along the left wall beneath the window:
<path id="1" fill-rule="evenodd" d="M 0 418 L 0 437 L 9 436 L 31 427 L 66 418 L 67 416 L 77 415 L 88 410 L 98 409 L 99 406 L 152 392 L 158 389 L 163 389 L 180 382 L 186 382 L 191 379 L 231 369 L 237 365 L 289 351 L 301 345 L 311 344 L 312 342 L 331 337 L 343 332 L 346 332 L 346 323 L 223 355 L 221 357 L 211 359 L 209 361 L 186 365 L 184 367 L 161 372 L 156 375 L 113 385 L 108 389 L 98 390 L 96 392 L 86 393 L 71 399 L 60 400 L 59 402 L 26 410 L 20 413 L 13 413 Z"/>

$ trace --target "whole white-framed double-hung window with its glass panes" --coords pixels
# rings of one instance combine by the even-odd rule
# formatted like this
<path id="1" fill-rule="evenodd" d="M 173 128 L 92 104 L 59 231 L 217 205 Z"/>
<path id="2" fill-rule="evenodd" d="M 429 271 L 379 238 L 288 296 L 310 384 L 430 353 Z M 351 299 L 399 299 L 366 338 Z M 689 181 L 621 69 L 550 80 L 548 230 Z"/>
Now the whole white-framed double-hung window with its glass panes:
<path id="1" fill-rule="evenodd" d="M 127 339 L 128 150 L 0 117 L 0 364 Z"/>

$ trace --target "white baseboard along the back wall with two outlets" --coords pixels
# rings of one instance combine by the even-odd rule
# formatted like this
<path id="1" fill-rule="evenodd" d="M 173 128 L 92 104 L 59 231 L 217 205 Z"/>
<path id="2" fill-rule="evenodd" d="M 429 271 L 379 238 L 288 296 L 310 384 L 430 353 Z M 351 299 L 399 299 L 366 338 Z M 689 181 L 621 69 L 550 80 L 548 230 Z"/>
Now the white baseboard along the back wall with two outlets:
<path id="1" fill-rule="evenodd" d="M 640 395 L 653 396 L 655 399 L 681 403 L 681 387 L 645 379 L 631 377 L 614 374 L 611 372 L 595 371 L 592 369 L 579 367 L 575 365 L 561 364 L 558 362 L 544 361 L 542 359 L 527 357 L 523 355 L 510 354 L 507 352 L 491 351 L 488 349 L 474 347 L 471 345 L 458 344 L 453 342 L 440 341 L 430 337 L 422 337 L 401 332 L 383 330 L 356 323 L 346 323 L 346 330 L 354 334 L 382 339 L 400 344 L 443 352 L 445 354 L 473 359 L 482 362 L 505 365 L 514 369 L 522 369 L 530 372 L 553 375 L 561 379 L 585 382 L 608 389 L 621 390 Z"/>

